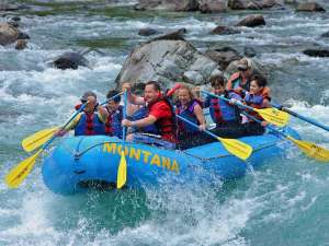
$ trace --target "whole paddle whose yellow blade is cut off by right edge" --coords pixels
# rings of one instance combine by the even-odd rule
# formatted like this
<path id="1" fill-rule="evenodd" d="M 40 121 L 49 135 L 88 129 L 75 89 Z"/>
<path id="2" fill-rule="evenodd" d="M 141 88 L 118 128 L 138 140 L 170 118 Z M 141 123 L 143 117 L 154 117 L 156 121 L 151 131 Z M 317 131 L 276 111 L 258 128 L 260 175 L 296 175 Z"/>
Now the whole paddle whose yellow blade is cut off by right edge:
<path id="1" fill-rule="evenodd" d="M 257 122 L 261 122 L 259 119 L 247 114 L 246 112 L 243 112 L 242 114 L 245 114 L 247 117 L 251 118 L 252 120 L 254 120 Z M 313 142 L 294 139 L 293 137 L 291 137 L 284 132 L 281 132 L 271 126 L 266 126 L 266 128 L 269 128 L 271 131 L 274 131 L 274 132 L 285 137 L 287 140 L 295 143 L 295 145 L 297 145 L 299 148 L 299 150 L 302 150 L 307 156 L 313 157 L 319 162 L 329 162 L 329 150 L 326 150 L 325 148 L 321 148 Z"/>

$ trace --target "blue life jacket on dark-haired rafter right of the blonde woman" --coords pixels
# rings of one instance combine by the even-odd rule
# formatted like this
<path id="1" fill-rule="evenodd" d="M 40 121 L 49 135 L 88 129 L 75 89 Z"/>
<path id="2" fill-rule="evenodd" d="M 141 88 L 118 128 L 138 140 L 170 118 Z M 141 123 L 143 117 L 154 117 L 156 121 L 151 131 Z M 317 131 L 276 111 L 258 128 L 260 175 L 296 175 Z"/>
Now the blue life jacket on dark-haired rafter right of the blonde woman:
<path id="1" fill-rule="evenodd" d="M 226 91 L 224 96 L 226 98 L 241 99 L 241 97 L 234 92 Z M 230 105 L 228 102 L 213 96 L 209 96 L 207 101 L 209 113 L 215 124 L 239 121 L 240 116 L 237 106 Z"/>

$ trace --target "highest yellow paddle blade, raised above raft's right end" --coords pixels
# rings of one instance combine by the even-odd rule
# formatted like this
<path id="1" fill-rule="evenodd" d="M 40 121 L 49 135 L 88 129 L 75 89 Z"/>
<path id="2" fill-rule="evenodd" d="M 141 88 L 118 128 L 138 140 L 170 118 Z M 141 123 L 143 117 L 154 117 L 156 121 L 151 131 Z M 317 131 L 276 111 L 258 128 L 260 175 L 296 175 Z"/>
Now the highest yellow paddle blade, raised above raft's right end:
<path id="1" fill-rule="evenodd" d="M 257 109 L 253 108 L 264 120 L 277 127 L 284 127 L 290 121 L 290 115 L 274 107 Z"/>

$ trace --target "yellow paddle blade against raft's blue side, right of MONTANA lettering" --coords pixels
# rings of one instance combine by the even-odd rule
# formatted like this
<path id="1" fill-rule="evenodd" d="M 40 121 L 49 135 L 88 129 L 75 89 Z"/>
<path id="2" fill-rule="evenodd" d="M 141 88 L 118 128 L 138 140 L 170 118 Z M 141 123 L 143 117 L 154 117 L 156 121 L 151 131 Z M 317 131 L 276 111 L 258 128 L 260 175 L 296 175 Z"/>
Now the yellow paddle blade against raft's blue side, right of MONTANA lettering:
<path id="1" fill-rule="evenodd" d="M 247 160 L 252 153 L 252 147 L 237 139 L 223 139 L 219 137 L 217 139 L 223 143 L 228 152 L 239 159 Z"/>

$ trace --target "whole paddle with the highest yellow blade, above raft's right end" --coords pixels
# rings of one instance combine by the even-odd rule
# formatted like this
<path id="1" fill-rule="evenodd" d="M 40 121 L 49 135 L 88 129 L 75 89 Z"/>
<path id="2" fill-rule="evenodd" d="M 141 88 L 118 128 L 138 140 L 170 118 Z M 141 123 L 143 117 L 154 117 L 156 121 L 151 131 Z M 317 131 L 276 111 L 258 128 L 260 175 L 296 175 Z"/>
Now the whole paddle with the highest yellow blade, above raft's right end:
<path id="1" fill-rule="evenodd" d="M 202 93 L 205 93 L 207 95 L 230 102 L 230 99 L 224 97 L 224 96 L 219 96 L 219 95 L 215 95 L 213 93 L 206 92 L 206 91 L 202 91 Z M 242 107 L 242 108 L 248 108 L 252 112 L 257 112 L 264 120 L 266 120 L 270 124 L 273 124 L 277 127 L 284 127 L 285 125 L 287 125 L 288 120 L 290 120 L 290 116 L 287 113 L 275 109 L 275 108 L 262 108 L 262 109 L 258 109 L 258 108 L 253 108 L 247 105 L 243 105 L 241 103 L 236 103 L 237 106 Z"/>

